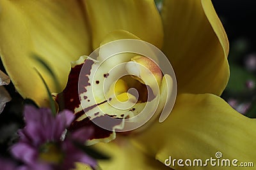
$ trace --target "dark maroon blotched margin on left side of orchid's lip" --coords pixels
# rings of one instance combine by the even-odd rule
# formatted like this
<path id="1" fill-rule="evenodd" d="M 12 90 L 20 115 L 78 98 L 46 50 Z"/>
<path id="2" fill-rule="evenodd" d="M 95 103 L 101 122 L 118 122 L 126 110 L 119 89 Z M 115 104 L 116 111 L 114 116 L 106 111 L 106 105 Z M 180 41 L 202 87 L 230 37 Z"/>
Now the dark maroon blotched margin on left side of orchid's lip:
<path id="1" fill-rule="evenodd" d="M 74 111 L 75 108 L 79 108 L 80 106 L 80 100 L 79 100 L 79 92 L 80 93 L 84 93 L 86 92 L 86 87 L 90 86 L 91 84 L 89 83 L 89 78 L 88 75 L 91 74 L 91 69 L 92 69 L 92 65 L 93 65 L 93 60 L 90 59 L 86 59 L 85 62 L 83 64 L 79 64 L 75 67 L 71 68 L 70 74 L 68 76 L 68 82 L 67 82 L 67 86 L 66 88 L 63 90 L 63 92 L 61 92 L 61 94 L 58 94 L 56 96 L 56 102 L 60 103 L 61 101 L 63 101 L 64 104 L 64 108 Z M 83 65 L 86 64 L 86 66 L 83 67 Z M 81 69 L 83 67 L 83 72 L 81 74 L 83 74 L 82 78 L 80 77 L 79 80 L 79 74 L 81 72 Z M 106 77 L 108 76 L 108 74 L 106 74 Z M 79 82 L 78 82 L 79 81 Z M 96 82 L 99 83 L 99 82 Z M 83 100 L 86 100 L 89 102 L 90 100 L 88 99 L 89 96 L 84 96 Z M 111 99 L 109 99 L 111 100 Z M 77 112 L 76 118 L 74 120 L 74 122 L 72 122 L 72 124 L 70 125 L 69 130 L 70 131 L 74 131 L 76 129 L 79 129 L 81 127 L 92 127 L 93 128 L 93 134 L 90 137 L 90 139 L 101 139 L 101 138 L 108 138 L 113 131 L 108 131 L 106 129 L 102 129 L 101 127 L 99 127 L 98 125 L 96 125 L 95 122 L 98 122 L 99 124 L 106 124 L 107 122 L 107 126 L 108 129 L 113 129 L 113 127 L 115 127 L 118 124 L 122 123 L 121 119 L 116 119 L 116 118 L 111 118 L 108 115 L 104 115 L 104 116 L 99 116 L 96 118 L 93 118 L 93 121 L 90 120 L 90 117 L 86 117 L 83 120 L 77 120 L 79 117 L 81 117 L 82 115 L 84 115 L 86 113 L 86 111 L 90 111 L 93 108 L 95 108 L 96 106 L 99 106 L 100 104 L 104 104 L 107 101 L 103 101 L 102 103 L 98 103 L 98 104 L 94 104 L 92 106 L 88 106 L 87 108 L 84 108 L 84 110 Z M 75 113 L 75 111 L 74 111 Z M 95 113 L 95 116 L 99 115 L 99 113 Z"/>

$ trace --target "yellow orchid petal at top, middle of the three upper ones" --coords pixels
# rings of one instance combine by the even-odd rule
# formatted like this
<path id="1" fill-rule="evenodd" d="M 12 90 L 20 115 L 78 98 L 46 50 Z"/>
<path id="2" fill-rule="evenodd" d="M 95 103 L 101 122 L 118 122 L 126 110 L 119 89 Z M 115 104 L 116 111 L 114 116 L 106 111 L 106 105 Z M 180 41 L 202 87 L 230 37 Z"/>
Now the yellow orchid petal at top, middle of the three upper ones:
<path id="1" fill-rule="evenodd" d="M 153 0 L 142 1 L 84 1 L 92 25 L 93 48 L 100 45 L 107 34 L 124 29 L 161 48 L 163 27 Z"/>

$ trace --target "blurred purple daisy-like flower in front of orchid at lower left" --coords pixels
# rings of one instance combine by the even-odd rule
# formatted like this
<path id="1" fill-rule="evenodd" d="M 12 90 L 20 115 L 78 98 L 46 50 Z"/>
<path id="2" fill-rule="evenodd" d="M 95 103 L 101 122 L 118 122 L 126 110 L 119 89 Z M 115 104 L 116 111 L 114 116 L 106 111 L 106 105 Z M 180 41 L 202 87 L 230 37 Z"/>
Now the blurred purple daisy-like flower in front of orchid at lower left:
<path id="1" fill-rule="evenodd" d="M 24 117 L 26 126 L 18 132 L 19 143 L 11 150 L 24 162 L 22 169 L 65 170 L 74 168 L 75 162 L 97 166 L 94 159 L 74 145 L 74 141 L 85 143 L 92 129 L 77 129 L 66 135 L 74 120 L 72 112 L 64 110 L 54 117 L 48 108 L 25 106 Z"/>

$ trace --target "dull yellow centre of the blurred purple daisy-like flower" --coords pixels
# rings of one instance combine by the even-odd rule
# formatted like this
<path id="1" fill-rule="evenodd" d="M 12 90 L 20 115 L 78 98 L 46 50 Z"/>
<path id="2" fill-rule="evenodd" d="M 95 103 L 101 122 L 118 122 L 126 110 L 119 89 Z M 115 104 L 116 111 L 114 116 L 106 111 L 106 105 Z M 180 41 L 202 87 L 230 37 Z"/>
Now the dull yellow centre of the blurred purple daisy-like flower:
<path id="1" fill-rule="evenodd" d="M 57 143 L 45 143 L 39 148 L 39 159 L 42 162 L 60 164 L 63 161 L 63 158 L 64 154 Z"/>

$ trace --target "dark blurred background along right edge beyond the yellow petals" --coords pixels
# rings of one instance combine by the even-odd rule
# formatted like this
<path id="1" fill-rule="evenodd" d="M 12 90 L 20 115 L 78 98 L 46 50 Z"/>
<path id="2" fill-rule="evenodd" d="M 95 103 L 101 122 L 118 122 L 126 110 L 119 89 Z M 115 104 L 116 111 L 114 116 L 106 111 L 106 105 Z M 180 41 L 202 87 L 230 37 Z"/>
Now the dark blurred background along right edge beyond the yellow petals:
<path id="1" fill-rule="evenodd" d="M 230 79 L 221 97 L 246 117 L 256 118 L 256 1 L 212 0 L 212 4 L 230 43 Z"/>

